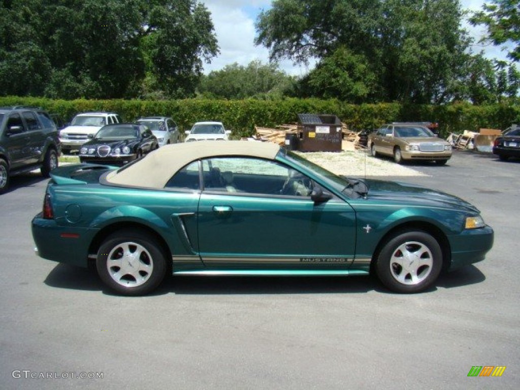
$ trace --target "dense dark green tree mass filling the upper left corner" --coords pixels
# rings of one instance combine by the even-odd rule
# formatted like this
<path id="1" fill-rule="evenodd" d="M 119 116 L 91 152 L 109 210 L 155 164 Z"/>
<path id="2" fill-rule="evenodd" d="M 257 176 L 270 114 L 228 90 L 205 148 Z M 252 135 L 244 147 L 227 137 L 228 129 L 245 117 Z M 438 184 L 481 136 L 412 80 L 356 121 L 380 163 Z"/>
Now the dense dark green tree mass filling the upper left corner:
<path id="1" fill-rule="evenodd" d="M 202 60 L 217 53 L 210 14 L 196 0 L 0 3 L 6 95 L 121 98 L 149 87 L 184 97 Z"/>

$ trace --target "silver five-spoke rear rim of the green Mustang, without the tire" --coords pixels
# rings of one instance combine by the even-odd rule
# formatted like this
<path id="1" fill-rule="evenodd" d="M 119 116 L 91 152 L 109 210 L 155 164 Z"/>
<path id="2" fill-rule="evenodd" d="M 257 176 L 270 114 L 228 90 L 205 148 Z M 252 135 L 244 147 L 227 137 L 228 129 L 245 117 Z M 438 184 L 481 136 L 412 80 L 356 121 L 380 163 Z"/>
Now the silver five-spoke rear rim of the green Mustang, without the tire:
<path id="1" fill-rule="evenodd" d="M 123 287 L 137 287 L 152 275 L 153 259 L 144 246 L 122 242 L 108 254 L 107 270 L 110 277 Z"/>

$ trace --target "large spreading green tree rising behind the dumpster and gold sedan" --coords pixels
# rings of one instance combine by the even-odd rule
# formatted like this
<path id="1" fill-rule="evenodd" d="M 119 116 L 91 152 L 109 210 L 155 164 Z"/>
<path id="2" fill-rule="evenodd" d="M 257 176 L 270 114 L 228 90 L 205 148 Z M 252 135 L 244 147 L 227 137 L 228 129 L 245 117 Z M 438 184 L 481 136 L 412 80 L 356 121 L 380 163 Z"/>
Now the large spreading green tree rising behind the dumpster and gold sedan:
<path id="1" fill-rule="evenodd" d="M 276 0 L 258 17 L 255 43 L 275 60 L 314 56 L 322 70 L 330 69 L 331 60 L 338 63 L 342 47 L 350 59 L 366 61 L 375 76 L 375 100 L 442 103 L 456 94 L 469 56 L 471 41 L 461 20 L 457 0 Z"/>

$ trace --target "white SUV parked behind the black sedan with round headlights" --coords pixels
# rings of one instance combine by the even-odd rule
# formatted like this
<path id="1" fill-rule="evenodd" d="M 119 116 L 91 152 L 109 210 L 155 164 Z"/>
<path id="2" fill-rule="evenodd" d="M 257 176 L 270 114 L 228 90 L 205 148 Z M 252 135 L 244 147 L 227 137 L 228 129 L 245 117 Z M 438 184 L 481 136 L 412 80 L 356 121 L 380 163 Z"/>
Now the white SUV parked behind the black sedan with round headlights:
<path id="1" fill-rule="evenodd" d="M 64 154 L 73 150 L 80 150 L 81 146 L 89 140 L 89 135 L 94 135 L 105 126 L 121 123 L 121 118 L 113 112 L 84 112 L 77 114 L 69 126 L 59 132 L 61 150 Z"/>

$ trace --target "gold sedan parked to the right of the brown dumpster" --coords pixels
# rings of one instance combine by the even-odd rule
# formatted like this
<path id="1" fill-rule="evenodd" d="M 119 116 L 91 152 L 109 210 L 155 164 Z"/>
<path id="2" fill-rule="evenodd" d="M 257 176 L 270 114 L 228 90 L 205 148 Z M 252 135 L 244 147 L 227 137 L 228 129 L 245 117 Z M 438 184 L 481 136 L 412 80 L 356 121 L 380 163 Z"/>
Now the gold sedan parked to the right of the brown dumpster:
<path id="1" fill-rule="evenodd" d="M 368 136 L 373 155 L 392 156 L 401 164 L 405 161 L 435 161 L 444 165 L 451 157 L 451 144 L 438 138 L 425 126 L 391 123 Z"/>

